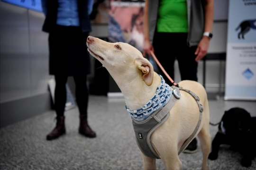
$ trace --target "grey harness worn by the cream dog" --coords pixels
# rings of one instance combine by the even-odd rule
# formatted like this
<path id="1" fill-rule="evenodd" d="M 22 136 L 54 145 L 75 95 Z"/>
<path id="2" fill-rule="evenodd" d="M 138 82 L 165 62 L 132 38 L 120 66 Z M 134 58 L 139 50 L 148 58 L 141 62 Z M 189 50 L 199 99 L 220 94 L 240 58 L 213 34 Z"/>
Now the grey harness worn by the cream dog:
<path id="1" fill-rule="evenodd" d="M 194 135 L 197 133 L 201 124 L 203 106 L 199 102 L 200 98 L 188 89 L 183 89 L 182 87 L 177 88 L 175 86 L 172 86 L 172 88 L 177 90 L 176 94 L 172 95 L 171 99 L 165 105 L 165 107 L 155 111 L 151 116 L 149 116 L 145 120 L 137 121 L 132 118 L 132 125 L 135 132 L 137 145 L 140 151 L 143 152 L 143 154 L 151 158 L 160 159 L 160 157 L 158 156 L 158 154 L 155 152 L 154 148 L 151 145 L 150 136 L 155 131 L 155 129 L 157 129 L 160 125 L 162 125 L 169 117 L 169 111 L 172 109 L 175 102 L 180 97 L 180 93 L 179 93 L 180 90 L 188 92 L 189 94 L 192 95 L 193 98 L 195 98 L 200 110 L 200 116 L 199 116 L 198 123 L 195 127 L 195 130 L 193 131 L 191 136 L 183 143 L 178 154 L 180 154 L 185 149 L 185 147 L 192 141 Z M 175 90 L 174 90 L 174 93 L 175 93 Z"/>

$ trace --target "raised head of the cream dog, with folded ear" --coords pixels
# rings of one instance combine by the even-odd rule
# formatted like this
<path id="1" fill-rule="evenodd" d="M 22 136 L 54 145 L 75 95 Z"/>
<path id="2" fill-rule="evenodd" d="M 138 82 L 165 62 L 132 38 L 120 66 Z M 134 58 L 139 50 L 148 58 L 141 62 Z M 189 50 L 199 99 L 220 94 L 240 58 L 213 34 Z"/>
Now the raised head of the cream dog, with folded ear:
<path id="1" fill-rule="evenodd" d="M 88 36 L 90 54 L 99 60 L 115 81 L 143 80 L 147 86 L 153 82 L 153 66 L 140 51 L 127 43 L 108 43 Z"/>

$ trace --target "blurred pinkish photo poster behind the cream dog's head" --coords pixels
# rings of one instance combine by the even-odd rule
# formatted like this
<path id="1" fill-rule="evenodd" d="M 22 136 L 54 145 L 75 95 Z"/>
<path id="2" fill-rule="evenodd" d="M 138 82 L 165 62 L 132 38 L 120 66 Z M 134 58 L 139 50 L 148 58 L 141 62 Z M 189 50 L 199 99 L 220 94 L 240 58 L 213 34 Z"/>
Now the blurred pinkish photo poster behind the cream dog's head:
<path id="1" fill-rule="evenodd" d="M 109 41 L 128 43 L 143 51 L 145 0 L 110 0 Z"/>

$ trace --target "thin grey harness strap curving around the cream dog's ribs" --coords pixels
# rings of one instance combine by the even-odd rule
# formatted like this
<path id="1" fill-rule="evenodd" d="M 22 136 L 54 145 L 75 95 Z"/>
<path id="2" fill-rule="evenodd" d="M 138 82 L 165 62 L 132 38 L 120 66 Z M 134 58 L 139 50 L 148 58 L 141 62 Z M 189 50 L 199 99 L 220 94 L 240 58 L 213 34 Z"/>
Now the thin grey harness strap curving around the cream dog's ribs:
<path id="1" fill-rule="evenodd" d="M 195 98 L 197 104 L 198 104 L 198 107 L 199 107 L 199 110 L 200 110 L 200 115 L 199 115 L 199 120 L 197 122 L 197 125 L 195 127 L 195 130 L 193 131 L 193 133 L 190 135 L 190 137 L 183 143 L 182 147 L 180 148 L 179 152 L 178 152 L 178 155 L 183 152 L 183 150 L 187 147 L 187 145 L 192 141 L 193 137 L 195 136 L 195 134 L 197 133 L 200 125 L 201 125 L 201 119 L 202 119 L 202 112 L 203 112 L 203 106 L 201 105 L 201 103 L 199 102 L 200 101 L 200 98 L 195 94 L 193 93 L 192 91 L 188 90 L 188 89 L 181 89 L 183 91 L 186 91 L 188 92 L 189 94 L 191 94 L 191 96 L 193 98 Z"/>

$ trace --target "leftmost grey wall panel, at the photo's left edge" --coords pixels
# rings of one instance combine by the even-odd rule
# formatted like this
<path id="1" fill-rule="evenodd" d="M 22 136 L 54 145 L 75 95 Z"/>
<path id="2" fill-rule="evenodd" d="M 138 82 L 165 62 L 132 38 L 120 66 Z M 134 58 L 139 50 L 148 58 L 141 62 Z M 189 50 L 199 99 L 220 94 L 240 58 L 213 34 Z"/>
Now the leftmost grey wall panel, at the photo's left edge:
<path id="1" fill-rule="evenodd" d="M 0 2 L 0 102 L 30 95 L 27 9 Z"/>

